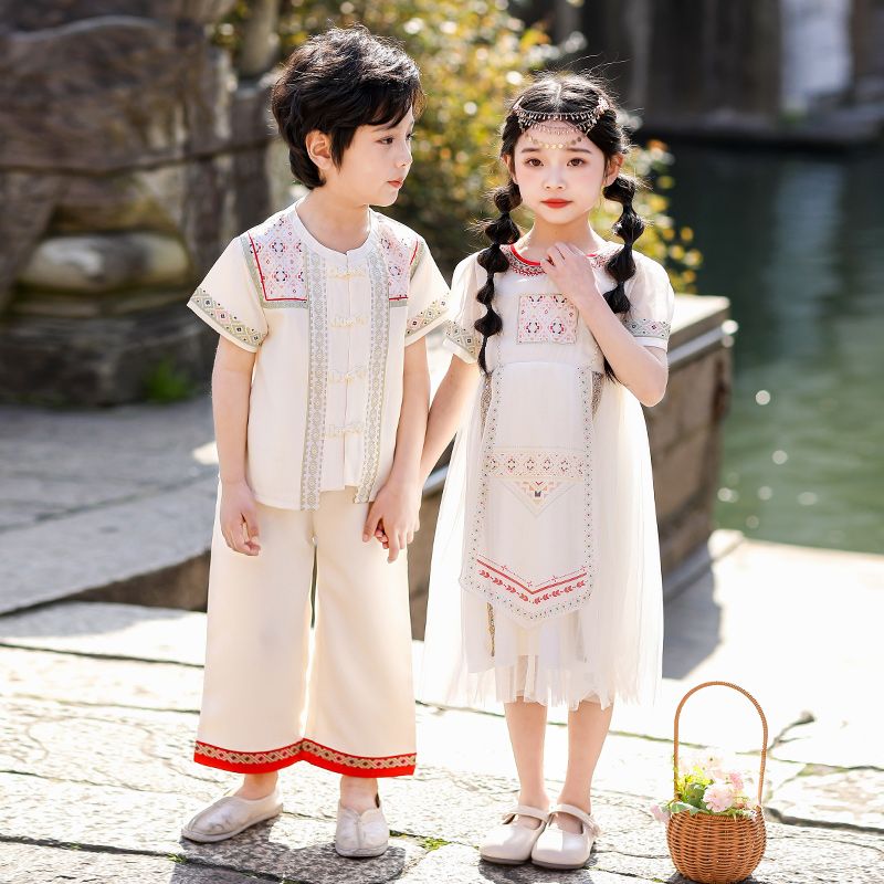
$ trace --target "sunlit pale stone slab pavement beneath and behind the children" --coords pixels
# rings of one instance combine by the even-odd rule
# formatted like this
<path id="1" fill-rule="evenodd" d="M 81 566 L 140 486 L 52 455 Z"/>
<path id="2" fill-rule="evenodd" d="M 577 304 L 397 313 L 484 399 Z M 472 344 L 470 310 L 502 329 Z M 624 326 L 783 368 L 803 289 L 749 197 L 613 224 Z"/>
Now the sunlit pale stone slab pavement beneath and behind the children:
<path id="1" fill-rule="evenodd" d="M 419 772 L 382 787 L 397 832 L 385 857 L 336 856 L 336 778 L 306 765 L 284 771 L 277 820 L 219 845 L 182 840 L 181 822 L 233 779 L 190 760 L 204 614 L 75 597 L 107 587 L 120 600 L 175 597 L 188 562 L 202 567 L 214 491 L 206 399 L 98 412 L 0 408 L 2 884 L 676 882 L 648 806 L 669 797 L 675 704 L 709 678 L 751 691 L 770 725 L 770 841 L 755 880 L 884 881 L 874 701 L 884 558 L 727 533 L 713 537 L 711 571 L 667 600 L 657 704 L 615 712 L 594 792 L 604 831 L 588 869 L 481 863 L 475 845 L 516 787 L 505 724 L 423 705 Z M 567 733 L 552 719 L 555 789 Z M 760 725 L 733 692 L 693 697 L 682 736 L 758 765 Z"/>

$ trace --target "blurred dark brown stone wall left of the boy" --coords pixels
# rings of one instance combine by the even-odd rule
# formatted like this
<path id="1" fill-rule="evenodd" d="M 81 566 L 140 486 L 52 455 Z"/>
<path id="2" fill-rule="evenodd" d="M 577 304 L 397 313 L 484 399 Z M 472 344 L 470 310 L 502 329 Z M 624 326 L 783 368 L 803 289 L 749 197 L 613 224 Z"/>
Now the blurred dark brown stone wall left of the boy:
<path id="1" fill-rule="evenodd" d="M 108 404 L 160 366 L 206 377 L 212 341 L 180 305 L 273 211 L 254 45 L 275 22 L 243 80 L 208 36 L 234 2 L 3 4 L 0 398 Z"/>

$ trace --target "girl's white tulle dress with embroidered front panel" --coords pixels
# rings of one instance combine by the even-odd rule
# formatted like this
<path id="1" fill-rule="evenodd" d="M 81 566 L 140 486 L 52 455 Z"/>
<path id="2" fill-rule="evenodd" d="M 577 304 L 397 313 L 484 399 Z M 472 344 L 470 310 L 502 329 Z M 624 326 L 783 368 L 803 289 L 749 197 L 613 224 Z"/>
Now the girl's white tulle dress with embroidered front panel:
<path id="1" fill-rule="evenodd" d="M 613 287 L 611 243 L 588 259 Z M 487 706 L 525 697 L 653 696 L 660 682 L 662 593 L 644 417 L 608 380 L 577 308 L 540 266 L 505 246 L 495 275 L 503 332 L 455 441 L 430 578 L 421 695 Z M 663 267 L 635 254 L 628 330 L 666 349 L 674 296 Z M 460 304 L 446 346 L 475 361 L 486 278 L 476 255 L 456 269 Z"/>

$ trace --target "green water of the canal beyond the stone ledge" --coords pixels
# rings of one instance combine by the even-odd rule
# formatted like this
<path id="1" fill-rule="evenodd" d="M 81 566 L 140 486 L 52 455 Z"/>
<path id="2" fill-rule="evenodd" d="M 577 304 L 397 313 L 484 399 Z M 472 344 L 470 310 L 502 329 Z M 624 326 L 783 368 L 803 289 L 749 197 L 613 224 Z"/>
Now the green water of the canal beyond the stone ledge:
<path id="1" fill-rule="evenodd" d="M 884 552 L 884 151 L 671 149 L 739 323 L 718 527 Z"/>

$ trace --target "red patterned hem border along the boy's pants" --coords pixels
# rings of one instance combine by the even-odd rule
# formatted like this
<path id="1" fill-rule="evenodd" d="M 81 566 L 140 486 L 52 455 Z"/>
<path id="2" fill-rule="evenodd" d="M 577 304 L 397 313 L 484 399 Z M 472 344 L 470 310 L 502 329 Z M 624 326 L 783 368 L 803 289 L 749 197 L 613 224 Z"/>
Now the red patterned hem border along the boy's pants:
<path id="1" fill-rule="evenodd" d="M 301 739 L 280 749 L 244 753 L 222 749 L 220 746 L 198 740 L 193 760 L 207 767 L 235 774 L 266 774 L 290 767 L 297 761 L 307 761 L 349 777 L 402 777 L 414 772 L 417 755 L 412 753 L 378 758 L 347 755 L 311 739 Z"/>

